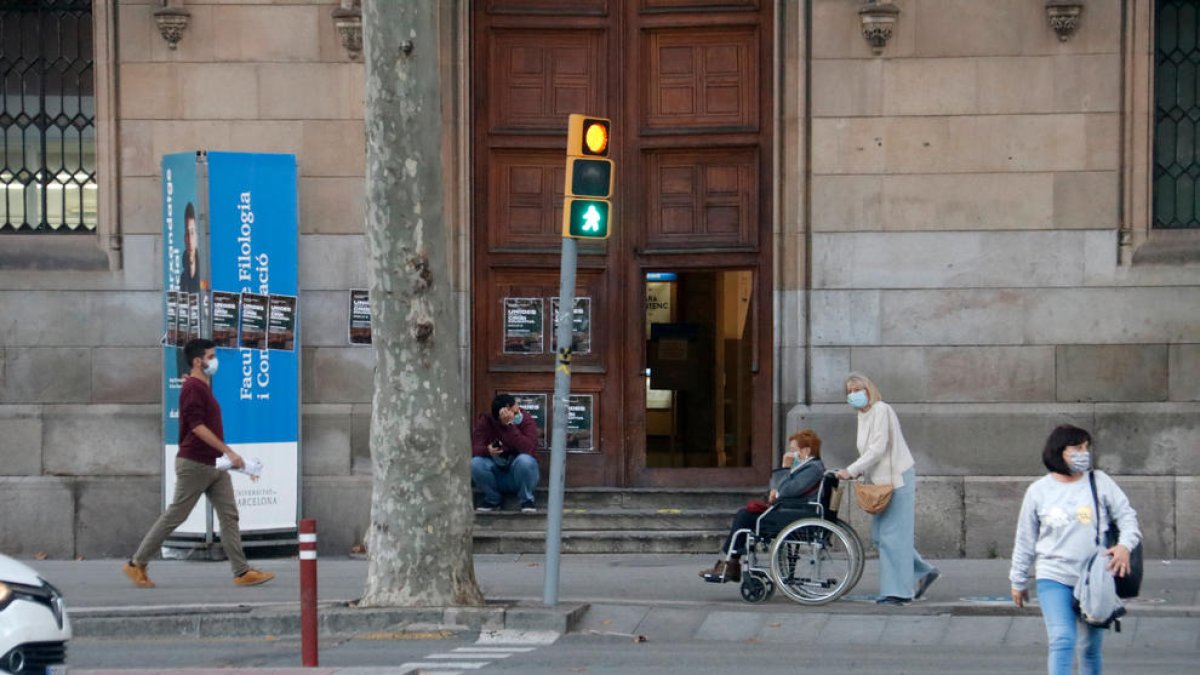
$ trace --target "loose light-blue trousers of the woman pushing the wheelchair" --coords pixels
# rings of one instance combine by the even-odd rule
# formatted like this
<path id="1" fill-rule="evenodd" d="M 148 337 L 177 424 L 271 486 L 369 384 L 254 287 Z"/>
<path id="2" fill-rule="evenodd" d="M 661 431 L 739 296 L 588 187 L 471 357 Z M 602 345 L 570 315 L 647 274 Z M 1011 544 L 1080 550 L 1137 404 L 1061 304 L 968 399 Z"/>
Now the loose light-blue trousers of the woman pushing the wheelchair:
<path id="1" fill-rule="evenodd" d="M 880 550 L 880 595 L 912 598 L 917 579 L 932 572 L 913 539 L 917 533 L 917 470 L 901 474 L 904 488 L 892 492 L 883 513 L 871 519 L 871 540 Z"/>

